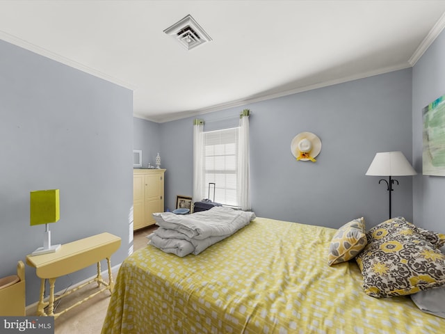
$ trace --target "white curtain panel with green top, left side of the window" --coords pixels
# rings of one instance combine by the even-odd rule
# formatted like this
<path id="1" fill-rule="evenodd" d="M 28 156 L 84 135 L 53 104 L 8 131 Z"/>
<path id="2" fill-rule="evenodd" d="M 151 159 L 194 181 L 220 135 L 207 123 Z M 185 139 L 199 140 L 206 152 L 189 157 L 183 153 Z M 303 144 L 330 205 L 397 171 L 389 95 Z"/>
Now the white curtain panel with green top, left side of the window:
<path id="1" fill-rule="evenodd" d="M 204 142 L 204 121 L 193 121 L 193 202 L 199 202 L 205 198 L 203 189 L 202 164 Z"/>

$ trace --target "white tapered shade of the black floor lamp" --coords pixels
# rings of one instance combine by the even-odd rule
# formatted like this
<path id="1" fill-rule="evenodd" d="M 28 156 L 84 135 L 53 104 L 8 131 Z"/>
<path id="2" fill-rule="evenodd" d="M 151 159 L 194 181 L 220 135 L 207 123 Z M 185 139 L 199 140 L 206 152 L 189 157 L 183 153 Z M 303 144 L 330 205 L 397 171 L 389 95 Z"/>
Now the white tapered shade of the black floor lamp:
<path id="1" fill-rule="evenodd" d="M 375 154 L 366 175 L 371 176 L 407 176 L 416 175 L 405 155 L 400 151 L 378 152 Z"/>

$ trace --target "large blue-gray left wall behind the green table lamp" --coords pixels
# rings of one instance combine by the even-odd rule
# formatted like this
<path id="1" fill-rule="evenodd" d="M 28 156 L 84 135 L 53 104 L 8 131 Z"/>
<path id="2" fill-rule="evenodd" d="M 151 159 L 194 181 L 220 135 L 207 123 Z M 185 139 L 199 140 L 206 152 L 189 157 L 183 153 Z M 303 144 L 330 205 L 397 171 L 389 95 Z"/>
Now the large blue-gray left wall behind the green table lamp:
<path id="1" fill-rule="evenodd" d="M 44 225 L 29 225 L 29 192 L 38 189 L 60 189 L 53 244 L 111 232 L 122 237 L 111 258 L 119 264 L 133 205 L 133 93 L 1 40 L 0 58 L 0 277 L 43 246 Z M 56 291 L 95 270 L 58 279 Z M 39 288 L 26 265 L 27 305 Z"/>

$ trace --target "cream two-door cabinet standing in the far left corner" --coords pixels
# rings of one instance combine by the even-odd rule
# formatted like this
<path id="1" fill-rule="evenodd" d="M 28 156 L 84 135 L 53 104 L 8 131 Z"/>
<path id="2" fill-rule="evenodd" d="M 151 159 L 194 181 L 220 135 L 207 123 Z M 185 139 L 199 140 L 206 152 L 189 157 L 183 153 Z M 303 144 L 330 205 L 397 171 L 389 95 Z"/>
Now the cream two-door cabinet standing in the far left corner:
<path id="1" fill-rule="evenodd" d="M 133 229 L 156 223 L 154 212 L 164 211 L 165 169 L 133 170 Z"/>

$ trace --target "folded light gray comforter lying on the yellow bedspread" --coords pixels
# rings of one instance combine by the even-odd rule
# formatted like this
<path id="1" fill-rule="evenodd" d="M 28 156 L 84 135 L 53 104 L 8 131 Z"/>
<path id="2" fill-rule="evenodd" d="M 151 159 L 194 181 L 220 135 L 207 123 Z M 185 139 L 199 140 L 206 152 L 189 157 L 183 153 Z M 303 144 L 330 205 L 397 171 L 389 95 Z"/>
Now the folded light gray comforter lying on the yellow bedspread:
<path id="1" fill-rule="evenodd" d="M 184 257 L 198 255 L 256 218 L 253 212 L 234 210 L 229 207 L 213 207 L 195 214 L 153 214 L 159 228 L 147 237 L 149 243 L 165 253 Z"/>

